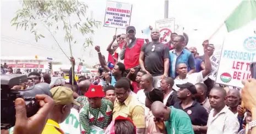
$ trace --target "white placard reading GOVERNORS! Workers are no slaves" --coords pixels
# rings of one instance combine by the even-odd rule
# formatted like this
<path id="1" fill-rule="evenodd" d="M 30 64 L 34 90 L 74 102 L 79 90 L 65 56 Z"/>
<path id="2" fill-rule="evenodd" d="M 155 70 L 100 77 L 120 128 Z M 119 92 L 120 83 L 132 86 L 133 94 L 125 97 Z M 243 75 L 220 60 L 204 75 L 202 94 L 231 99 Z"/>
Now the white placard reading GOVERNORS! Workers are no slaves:
<path id="1" fill-rule="evenodd" d="M 130 25 L 132 4 L 107 1 L 104 26 L 126 28 Z"/>

